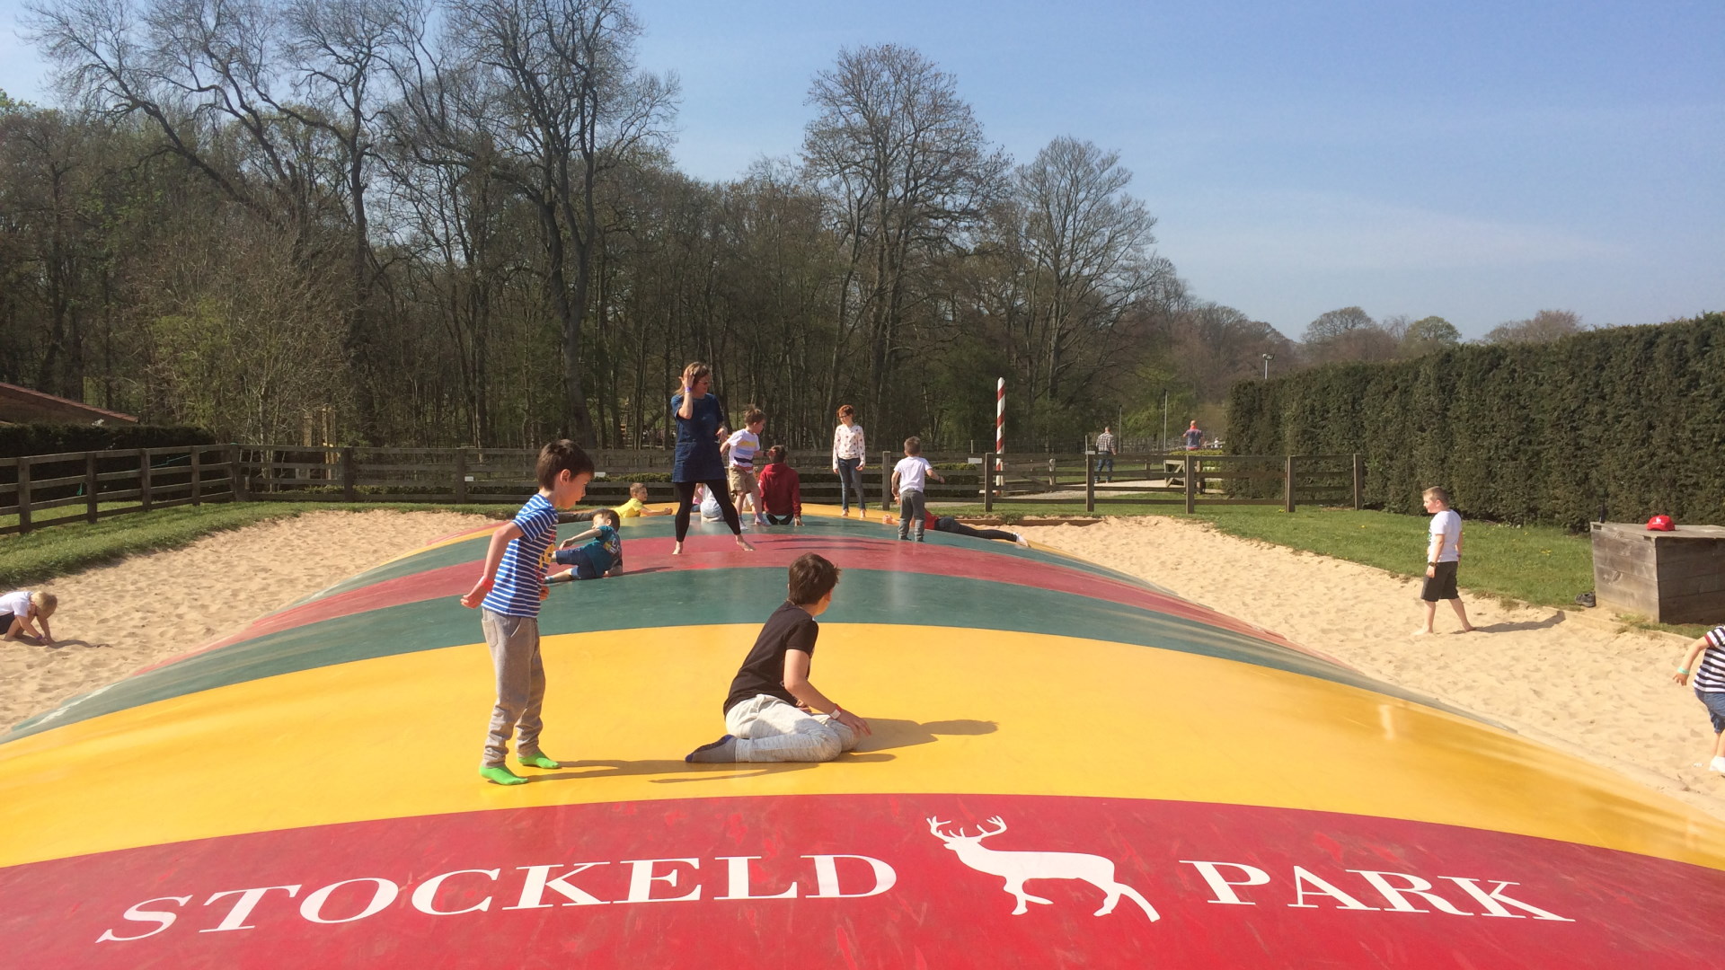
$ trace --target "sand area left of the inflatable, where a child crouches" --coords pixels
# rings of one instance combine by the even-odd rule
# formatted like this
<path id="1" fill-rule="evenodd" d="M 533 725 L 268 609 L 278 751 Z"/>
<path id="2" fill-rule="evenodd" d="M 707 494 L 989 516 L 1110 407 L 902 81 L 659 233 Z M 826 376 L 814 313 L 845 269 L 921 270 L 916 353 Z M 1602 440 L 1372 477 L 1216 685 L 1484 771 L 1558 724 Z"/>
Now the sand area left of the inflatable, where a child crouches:
<path id="1" fill-rule="evenodd" d="M 0 642 L 0 730 L 490 521 L 459 513 L 310 513 L 33 585 L 60 597 L 50 621 L 55 646 Z"/>

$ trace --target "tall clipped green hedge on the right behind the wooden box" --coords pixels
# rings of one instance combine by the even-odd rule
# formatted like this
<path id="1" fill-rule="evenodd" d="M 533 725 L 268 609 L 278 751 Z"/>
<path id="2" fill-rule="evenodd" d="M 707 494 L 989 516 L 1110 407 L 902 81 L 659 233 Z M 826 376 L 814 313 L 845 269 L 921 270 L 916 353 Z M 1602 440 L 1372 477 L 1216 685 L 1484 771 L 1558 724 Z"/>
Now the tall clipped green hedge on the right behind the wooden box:
<path id="1" fill-rule="evenodd" d="M 1333 364 L 1228 395 L 1232 454 L 1366 457 L 1364 501 L 1584 528 L 1654 513 L 1725 525 L 1725 314 L 1551 343 Z"/>

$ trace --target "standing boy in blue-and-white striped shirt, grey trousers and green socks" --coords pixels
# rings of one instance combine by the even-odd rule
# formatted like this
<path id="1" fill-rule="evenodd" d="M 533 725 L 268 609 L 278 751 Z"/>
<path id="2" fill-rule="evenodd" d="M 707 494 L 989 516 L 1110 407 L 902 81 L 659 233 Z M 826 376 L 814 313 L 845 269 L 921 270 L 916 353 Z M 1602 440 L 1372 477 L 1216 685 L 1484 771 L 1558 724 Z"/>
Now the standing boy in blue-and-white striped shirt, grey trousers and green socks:
<path id="1" fill-rule="evenodd" d="M 538 652 L 538 604 L 550 592 L 545 566 L 557 539 L 557 509 L 568 509 L 586 494 L 593 459 L 564 438 L 540 449 L 540 490 L 521 506 L 514 521 L 492 533 L 485 551 L 485 573 L 461 604 L 480 609 L 480 627 L 492 647 L 497 671 L 497 702 L 492 730 L 485 739 L 480 777 L 497 785 L 523 785 L 526 778 L 504 765 L 509 737 L 516 735 L 516 759 L 528 768 L 557 768 L 538 746 L 540 706 L 545 701 L 545 666 Z"/>

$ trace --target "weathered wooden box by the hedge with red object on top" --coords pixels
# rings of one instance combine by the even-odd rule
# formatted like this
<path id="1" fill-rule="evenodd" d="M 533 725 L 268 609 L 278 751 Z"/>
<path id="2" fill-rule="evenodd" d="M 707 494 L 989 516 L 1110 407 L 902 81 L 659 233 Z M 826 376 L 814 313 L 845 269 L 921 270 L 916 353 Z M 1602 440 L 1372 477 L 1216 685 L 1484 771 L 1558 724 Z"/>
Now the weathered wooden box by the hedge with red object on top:
<path id="1" fill-rule="evenodd" d="M 1594 595 L 1656 623 L 1725 623 L 1725 528 L 1594 523 Z"/>

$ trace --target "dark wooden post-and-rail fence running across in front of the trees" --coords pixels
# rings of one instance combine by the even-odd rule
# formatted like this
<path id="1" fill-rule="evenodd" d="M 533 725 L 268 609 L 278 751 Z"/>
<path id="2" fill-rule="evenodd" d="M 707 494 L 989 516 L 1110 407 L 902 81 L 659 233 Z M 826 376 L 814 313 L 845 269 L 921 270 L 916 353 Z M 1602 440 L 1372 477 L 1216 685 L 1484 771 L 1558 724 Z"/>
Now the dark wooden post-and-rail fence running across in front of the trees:
<path id="1" fill-rule="evenodd" d="M 590 501 L 621 502 L 630 480 L 647 482 L 654 501 L 671 497 L 673 452 L 593 450 L 602 478 Z M 0 459 L 0 535 L 74 521 L 231 501 L 512 504 L 538 485 L 536 449 L 383 449 L 309 445 L 179 445 L 64 452 Z M 1221 456 L 1151 452 L 1114 456 L 1099 478 L 1094 454 L 925 454 L 950 482 L 930 482 L 932 501 L 1176 504 L 1328 504 L 1361 507 L 1359 456 Z M 880 494 L 890 497 L 897 456 L 880 456 Z M 804 501 L 837 502 L 838 480 L 825 463 L 804 473 Z M 992 487 L 983 487 L 992 483 Z"/>

